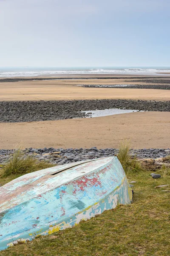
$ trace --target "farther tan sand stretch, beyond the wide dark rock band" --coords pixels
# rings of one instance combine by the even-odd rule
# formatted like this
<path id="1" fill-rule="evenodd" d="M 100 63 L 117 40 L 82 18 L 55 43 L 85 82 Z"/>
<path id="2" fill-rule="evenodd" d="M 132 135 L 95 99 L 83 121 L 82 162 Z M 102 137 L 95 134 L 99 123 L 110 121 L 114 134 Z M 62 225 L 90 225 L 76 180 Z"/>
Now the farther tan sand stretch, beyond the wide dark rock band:
<path id="1" fill-rule="evenodd" d="M 86 88 L 77 84 L 127 84 L 124 79 L 51 80 L 0 83 L 0 101 L 73 99 L 170 100 L 170 90 Z M 130 84 L 136 82 L 128 81 Z"/>

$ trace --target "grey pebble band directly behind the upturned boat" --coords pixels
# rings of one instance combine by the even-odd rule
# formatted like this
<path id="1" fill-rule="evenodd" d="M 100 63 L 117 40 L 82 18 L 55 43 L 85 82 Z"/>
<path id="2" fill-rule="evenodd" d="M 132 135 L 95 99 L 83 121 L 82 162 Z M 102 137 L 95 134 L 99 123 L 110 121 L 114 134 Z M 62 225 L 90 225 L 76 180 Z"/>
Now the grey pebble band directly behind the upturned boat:
<path id="1" fill-rule="evenodd" d="M 63 165 L 65 163 L 74 163 L 89 159 L 96 159 L 100 157 L 111 157 L 117 155 L 119 150 L 116 148 L 97 149 L 92 148 L 26 148 L 23 150 L 25 155 L 30 155 L 40 161 L 48 161 L 56 165 Z M 13 150 L 0 150 L 0 163 L 6 163 L 8 158 L 12 155 Z M 150 148 L 150 149 L 131 149 L 132 157 L 142 158 L 159 158 L 170 156 L 170 148 Z"/>

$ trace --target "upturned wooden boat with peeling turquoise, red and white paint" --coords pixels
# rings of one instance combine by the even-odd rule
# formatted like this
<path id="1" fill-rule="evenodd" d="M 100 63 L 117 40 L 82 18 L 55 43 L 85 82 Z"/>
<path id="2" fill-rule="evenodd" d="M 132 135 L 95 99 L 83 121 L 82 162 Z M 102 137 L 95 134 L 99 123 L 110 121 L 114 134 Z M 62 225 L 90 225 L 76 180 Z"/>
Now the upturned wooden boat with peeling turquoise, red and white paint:
<path id="1" fill-rule="evenodd" d="M 0 250 L 87 220 L 132 193 L 117 157 L 55 166 L 0 187 Z"/>

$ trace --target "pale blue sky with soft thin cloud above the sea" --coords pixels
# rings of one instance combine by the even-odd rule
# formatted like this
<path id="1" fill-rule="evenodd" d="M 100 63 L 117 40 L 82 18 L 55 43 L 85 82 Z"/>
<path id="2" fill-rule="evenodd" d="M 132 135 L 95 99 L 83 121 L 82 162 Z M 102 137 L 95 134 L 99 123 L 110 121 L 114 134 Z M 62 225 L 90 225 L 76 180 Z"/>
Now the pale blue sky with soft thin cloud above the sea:
<path id="1" fill-rule="evenodd" d="M 170 67 L 170 0 L 0 0 L 0 67 Z"/>

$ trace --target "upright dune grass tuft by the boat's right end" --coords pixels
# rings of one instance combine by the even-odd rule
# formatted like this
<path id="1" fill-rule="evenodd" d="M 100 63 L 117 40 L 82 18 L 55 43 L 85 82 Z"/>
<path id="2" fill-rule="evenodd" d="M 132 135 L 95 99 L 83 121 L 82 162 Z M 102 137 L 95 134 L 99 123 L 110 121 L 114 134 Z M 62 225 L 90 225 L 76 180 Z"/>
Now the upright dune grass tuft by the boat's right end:
<path id="1" fill-rule="evenodd" d="M 137 172 L 142 170 L 141 163 L 130 156 L 130 140 L 122 140 L 119 144 L 119 153 L 117 155 L 125 172 Z"/>

